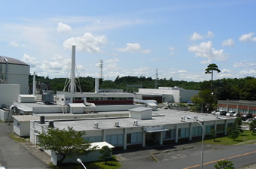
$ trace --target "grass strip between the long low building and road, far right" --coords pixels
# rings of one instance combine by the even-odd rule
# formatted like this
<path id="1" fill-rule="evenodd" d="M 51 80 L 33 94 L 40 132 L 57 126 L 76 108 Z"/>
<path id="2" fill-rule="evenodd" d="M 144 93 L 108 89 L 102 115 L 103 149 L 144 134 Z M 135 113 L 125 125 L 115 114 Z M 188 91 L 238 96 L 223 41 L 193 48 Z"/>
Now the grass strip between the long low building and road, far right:
<path id="1" fill-rule="evenodd" d="M 251 141 L 250 141 L 251 140 Z M 248 141 L 248 142 L 246 142 Z M 222 145 L 233 145 L 236 143 L 256 143 L 256 133 L 251 135 L 251 131 L 244 130 L 236 140 L 230 139 L 227 136 L 225 137 L 217 137 L 215 138 L 215 141 L 211 139 L 204 140 L 204 143 L 210 143 L 210 144 L 222 144 Z"/>

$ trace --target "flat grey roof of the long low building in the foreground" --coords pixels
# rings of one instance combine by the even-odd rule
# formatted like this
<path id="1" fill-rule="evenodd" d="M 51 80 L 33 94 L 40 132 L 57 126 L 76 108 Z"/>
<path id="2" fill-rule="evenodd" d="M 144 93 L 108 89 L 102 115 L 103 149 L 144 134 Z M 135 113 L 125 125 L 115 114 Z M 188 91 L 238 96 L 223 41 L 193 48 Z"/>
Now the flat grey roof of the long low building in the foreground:
<path id="1" fill-rule="evenodd" d="M 133 125 L 133 122 L 136 120 L 139 123 L 139 127 L 142 126 L 159 126 L 159 125 L 174 125 L 181 124 L 181 116 L 198 116 L 198 119 L 202 121 L 215 121 L 223 119 L 234 119 L 234 117 L 221 116 L 221 119 L 216 119 L 216 116 L 206 113 L 192 113 L 184 112 L 178 110 L 165 110 L 161 109 L 154 111 L 161 116 L 152 116 L 152 119 L 141 120 L 141 119 L 132 119 L 132 118 L 99 118 L 99 119 L 74 119 L 74 120 L 56 120 L 54 121 L 54 126 L 59 129 L 67 129 L 68 126 L 72 126 L 76 131 L 95 131 L 102 129 L 116 129 L 114 123 L 119 122 L 119 128 L 135 128 L 138 127 Z M 94 128 L 94 123 L 98 122 L 99 128 Z M 191 119 L 187 119 L 186 122 L 193 122 Z"/>

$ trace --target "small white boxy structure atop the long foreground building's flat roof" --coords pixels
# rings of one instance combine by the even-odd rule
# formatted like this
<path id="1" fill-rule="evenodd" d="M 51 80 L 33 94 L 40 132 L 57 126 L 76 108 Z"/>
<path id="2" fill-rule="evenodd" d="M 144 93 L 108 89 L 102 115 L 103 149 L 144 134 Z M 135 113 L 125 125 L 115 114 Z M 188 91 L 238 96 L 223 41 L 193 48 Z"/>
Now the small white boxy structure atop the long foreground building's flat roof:
<path id="1" fill-rule="evenodd" d="M 148 107 L 137 107 L 134 109 L 130 109 L 130 118 L 152 119 L 152 109 Z"/>

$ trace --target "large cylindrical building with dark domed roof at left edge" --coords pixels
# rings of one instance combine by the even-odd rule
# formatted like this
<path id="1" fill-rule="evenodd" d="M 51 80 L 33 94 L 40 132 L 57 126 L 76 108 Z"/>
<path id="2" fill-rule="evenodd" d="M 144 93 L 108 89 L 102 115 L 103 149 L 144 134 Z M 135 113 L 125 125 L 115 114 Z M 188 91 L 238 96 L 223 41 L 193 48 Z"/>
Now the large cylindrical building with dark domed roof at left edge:
<path id="1" fill-rule="evenodd" d="M 29 69 L 30 66 L 25 62 L 0 56 L 0 83 L 20 84 L 20 94 L 28 94 Z"/>

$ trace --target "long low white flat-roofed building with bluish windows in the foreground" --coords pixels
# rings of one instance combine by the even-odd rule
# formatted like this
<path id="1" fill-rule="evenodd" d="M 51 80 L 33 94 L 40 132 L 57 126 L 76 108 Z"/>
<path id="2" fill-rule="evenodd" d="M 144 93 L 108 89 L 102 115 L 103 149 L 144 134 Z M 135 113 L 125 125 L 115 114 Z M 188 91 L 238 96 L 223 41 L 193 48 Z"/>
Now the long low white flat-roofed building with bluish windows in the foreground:
<path id="1" fill-rule="evenodd" d="M 134 113 L 137 115 L 134 116 Z M 218 134 L 227 134 L 227 127 L 235 121 L 233 117 L 177 110 L 158 110 L 152 115 L 151 113 L 148 108 L 136 108 L 130 110 L 130 117 L 53 119 L 50 123 L 59 129 L 73 127 L 77 131 L 86 131 L 85 140 L 106 141 L 117 148 L 126 149 L 129 146 L 162 145 L 170 141 L 178 143 L 180 139 L 192 140 L 193 137 L 200 137 L 201 126 L 191 119 L 186 119 L 186 116 L 195 116 L 203 123 L 204 135 L 210 135 L 212 128 L 215 128 Z M 30 126 L 30 141 L 36 144 L 38 133 L 47 131 L 49 121 L 32 121 Z"/>

